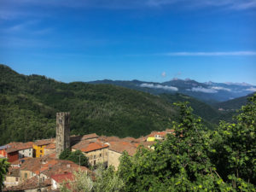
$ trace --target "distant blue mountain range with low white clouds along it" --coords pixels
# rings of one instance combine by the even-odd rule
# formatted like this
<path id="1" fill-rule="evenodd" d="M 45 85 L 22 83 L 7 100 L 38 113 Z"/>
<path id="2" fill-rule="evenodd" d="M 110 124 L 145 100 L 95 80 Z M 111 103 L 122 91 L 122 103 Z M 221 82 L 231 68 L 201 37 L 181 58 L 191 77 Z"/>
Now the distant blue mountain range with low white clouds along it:
<path id="1" fill-rule="evenodd" d="M 142 90 L 154 95 L 163 93 L 175 94 L 182 93 L 193 96 L 202 102 L 217 103 L 225 102 L 231 99 L 247 96 L 256 91 L 256 86 L 247 83 L 199 83 L 192 79 L 172 79 L 164 83 L 145 82 L 139 80 L 121 81 L 121 80 L 98 80 L 87 82 L 89 84 L 114 84 L 133 90 Z"/>

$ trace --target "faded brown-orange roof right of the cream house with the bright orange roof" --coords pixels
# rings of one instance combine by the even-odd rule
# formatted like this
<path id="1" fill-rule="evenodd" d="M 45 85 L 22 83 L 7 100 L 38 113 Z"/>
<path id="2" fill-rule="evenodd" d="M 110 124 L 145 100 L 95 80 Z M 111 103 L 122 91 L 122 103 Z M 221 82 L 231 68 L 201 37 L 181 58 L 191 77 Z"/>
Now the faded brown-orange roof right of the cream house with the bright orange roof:
<path id="1" fill-rule="evenodd" d="M 109 150 L 113 150 L 122 154 L 124 151 L 127 151 L 129 155 L 136 154 L 137 146 L 132 143 L 125 143 L 125 142 L 111 142 Z"/>

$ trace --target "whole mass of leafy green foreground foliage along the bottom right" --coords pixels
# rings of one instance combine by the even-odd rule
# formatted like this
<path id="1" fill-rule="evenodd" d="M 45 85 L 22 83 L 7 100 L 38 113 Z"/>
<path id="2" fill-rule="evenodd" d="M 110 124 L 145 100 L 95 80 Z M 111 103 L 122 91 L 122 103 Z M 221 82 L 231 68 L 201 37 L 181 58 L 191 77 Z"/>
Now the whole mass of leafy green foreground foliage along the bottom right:
<path id="1" fill-rule="evenodd" d="M 218 131 L 207 130 L 186 103 L 177 106 L 175 135 L 154 150 L 140 147 L 133 157 L 124 153 L 117 172 L 98 172 L 91 189 L 83 191 L 256 191 L 256 95 L 236 123 L 221 122 Z M 121 184 L 108 188 L 109 183 Z"/>

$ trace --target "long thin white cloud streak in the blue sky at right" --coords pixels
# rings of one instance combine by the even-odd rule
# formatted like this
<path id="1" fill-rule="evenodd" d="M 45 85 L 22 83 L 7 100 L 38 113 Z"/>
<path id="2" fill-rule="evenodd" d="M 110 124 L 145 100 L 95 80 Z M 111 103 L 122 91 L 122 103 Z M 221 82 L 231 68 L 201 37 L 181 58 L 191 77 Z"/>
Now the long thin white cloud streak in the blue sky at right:
<path id="1" fill-rule="evenodd" d="M 226 52 L 171 52 L 167 56 L 242 56 L 256 55 L 256 51 L 226 51 Z"/>

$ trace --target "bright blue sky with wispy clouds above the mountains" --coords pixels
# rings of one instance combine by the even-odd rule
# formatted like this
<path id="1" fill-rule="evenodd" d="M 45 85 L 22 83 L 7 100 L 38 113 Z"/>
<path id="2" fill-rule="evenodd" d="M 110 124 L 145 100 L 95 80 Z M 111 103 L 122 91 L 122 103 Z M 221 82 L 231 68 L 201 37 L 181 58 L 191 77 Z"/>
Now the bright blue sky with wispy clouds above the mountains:
<path id="1" fill-rule="evenodd" d="M 0 0 L 0 26 L 26 75 L 256 84 L 256 0 Z"/>

